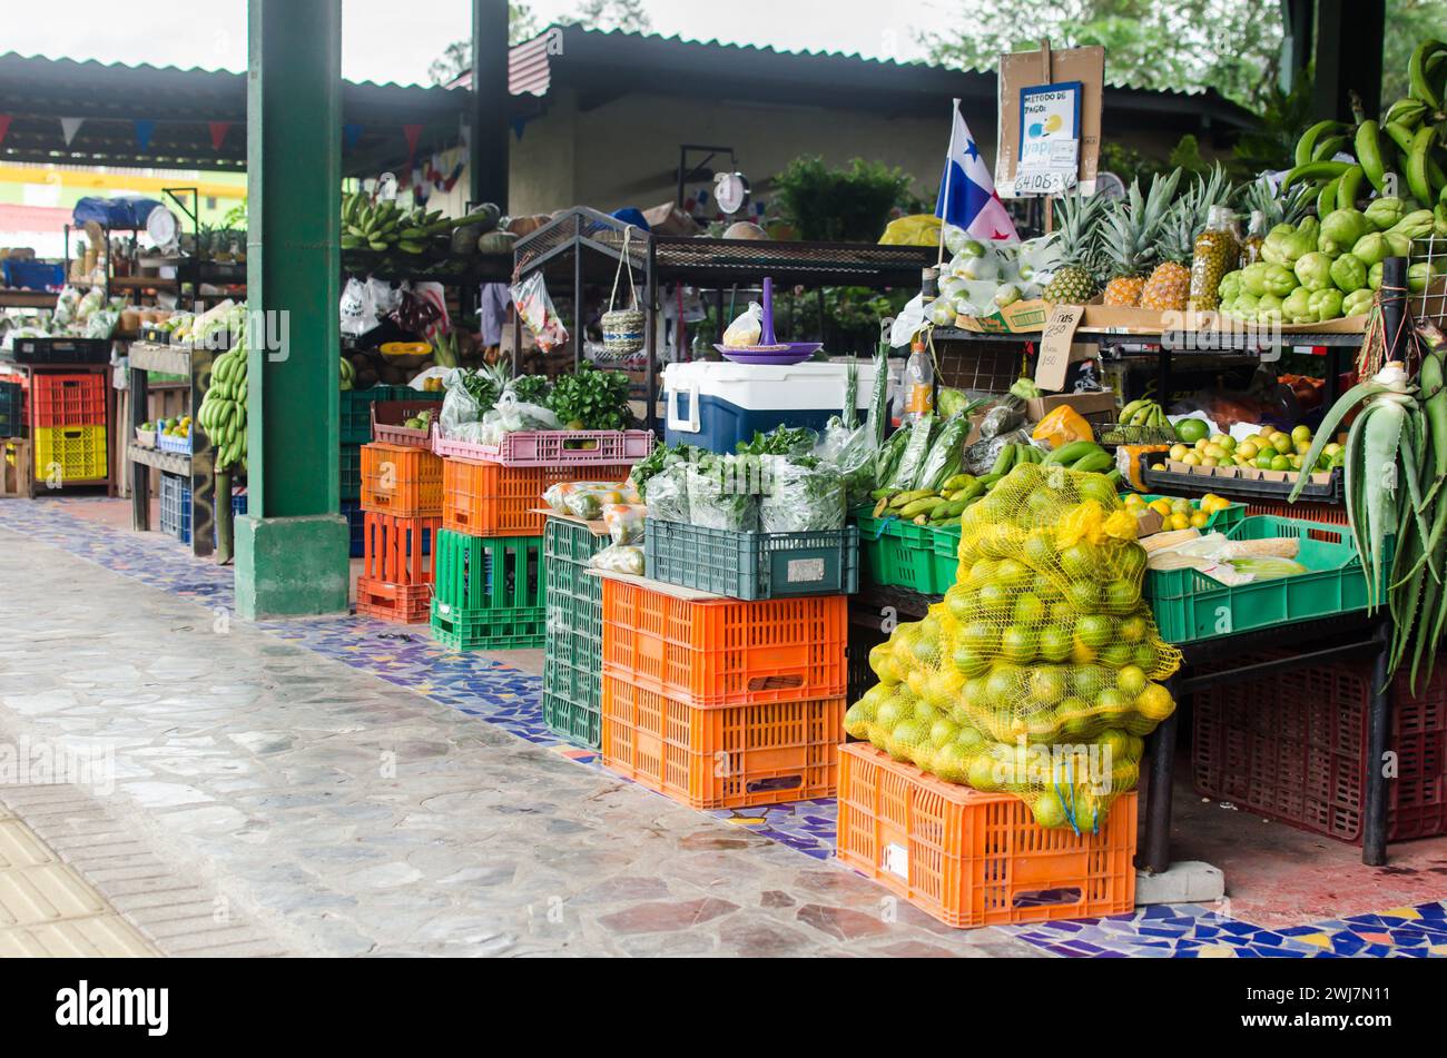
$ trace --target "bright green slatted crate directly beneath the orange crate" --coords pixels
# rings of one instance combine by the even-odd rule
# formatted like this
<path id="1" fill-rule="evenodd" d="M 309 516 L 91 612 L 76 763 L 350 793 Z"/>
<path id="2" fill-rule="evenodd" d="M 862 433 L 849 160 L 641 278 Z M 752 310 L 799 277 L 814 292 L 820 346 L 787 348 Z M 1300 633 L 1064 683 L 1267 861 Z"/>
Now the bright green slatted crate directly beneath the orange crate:
<path id="1" fill-rule="evenodd" d="M 546 575 L 537 536 L 437 533 L 437 598 L 464 613 L 543 608 Z"/>

